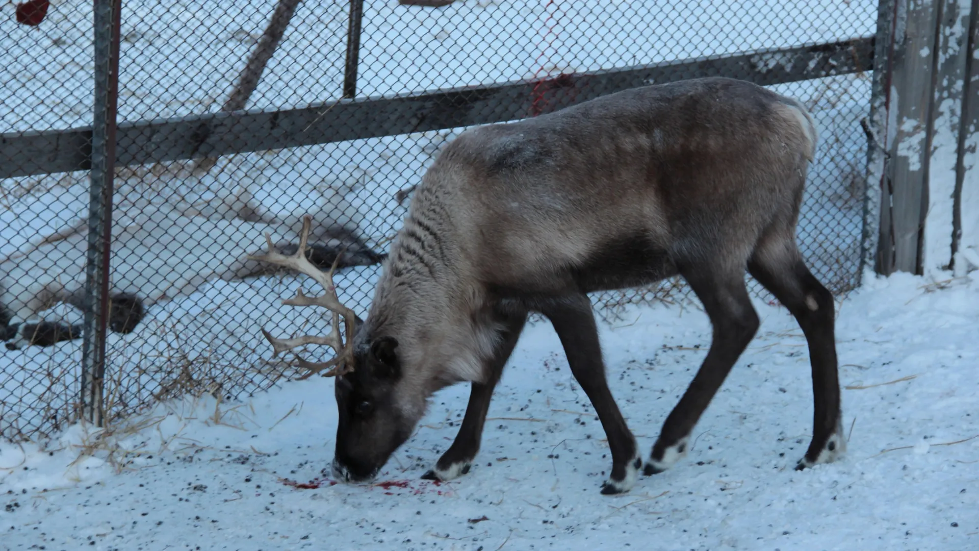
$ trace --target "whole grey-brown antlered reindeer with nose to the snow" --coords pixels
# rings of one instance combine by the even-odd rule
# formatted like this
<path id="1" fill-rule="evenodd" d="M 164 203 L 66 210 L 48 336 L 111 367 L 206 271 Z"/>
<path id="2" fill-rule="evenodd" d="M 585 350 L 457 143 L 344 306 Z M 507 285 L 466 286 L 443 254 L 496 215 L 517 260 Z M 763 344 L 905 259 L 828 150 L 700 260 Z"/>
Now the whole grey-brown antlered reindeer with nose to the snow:
<path id="1" fill-rule="evenodd" d="M 754 337 L 745 270 L 792 313 L 809 343 L 813 440 L 797 469 L 844 452 L 832 295 L 796 247 L 795 226 L 816 126 L 805 108 L 755 84 L 700 78 L 610 94 L 507 125 L 467 130 L 415 191 L 367 319 L 340 304 L 332 271 L 300 251 L 256 260 L 316 278 L 328 293 L 284 304 L 333 311 L 332 334 L 278 339 L 275 353 L 329 344 L 307 375 L 336 376 L 333 472 L 377 476 L 438 389 L 472 385 L 462 426 L 424 477 L 468 472 L 493 387 L 529 312 L 554 326 L 612 452 L 602 493 L 628 491 L 642 468 L 605 377 L 587 293 L 681 275 L 713 339 L 645 464 L 682 458 L 692 428 Z M 345 335 L 339 330 L 345 323 Z"/>

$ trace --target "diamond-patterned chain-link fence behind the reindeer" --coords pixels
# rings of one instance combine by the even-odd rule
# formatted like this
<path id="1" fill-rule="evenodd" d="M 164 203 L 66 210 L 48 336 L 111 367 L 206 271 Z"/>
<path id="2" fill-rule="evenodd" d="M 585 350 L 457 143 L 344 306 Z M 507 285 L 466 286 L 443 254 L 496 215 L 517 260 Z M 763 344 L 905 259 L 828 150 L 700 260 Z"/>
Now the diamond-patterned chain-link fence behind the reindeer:
<path id="1" fill-rule="evenodd" d="M 346 251 L 336 282 L 363 316 L 411 187 L 453 136 L 645 83 L 726 75 L 809 106 L 821 131 L 799 241 L 834 292 L 858 283 L 875 1 L 409 4 L 123 1 L 108 422 L 184 392 L 267 388 L 291 368 L 260 326 L 327 329 L 280 306 L 308 278 L 247 260 L 264 233 L 288 250 L 312 215 L 317 260 Z M 28 438 L 74 419 L 68 337 L 99 308 L 84 284 L 92 3 L 0 11 L 0 433 Z M 677 292 L 595 302 L 608 314 Z"/>

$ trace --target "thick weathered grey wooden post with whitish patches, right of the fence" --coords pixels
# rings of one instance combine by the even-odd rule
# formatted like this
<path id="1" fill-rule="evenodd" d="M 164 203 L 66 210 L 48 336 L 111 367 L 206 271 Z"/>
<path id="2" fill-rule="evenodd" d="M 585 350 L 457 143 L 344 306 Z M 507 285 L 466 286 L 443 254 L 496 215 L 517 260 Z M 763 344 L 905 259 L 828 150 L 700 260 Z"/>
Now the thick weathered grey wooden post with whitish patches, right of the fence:
<path id="1" fill-rule="evenodd" d="M 975 65 L 969 45 L 975 3 L 881 0 L 867 125 L 867 205 L 869 211 L 876 203 L 879 216 L 868 212 L 866 219 L 868 228 L 879 222 L 874 264 L 880 274 L 923 274 L 952 264 L 959 159 L 967 147 L 962 125 L 975 103 L 975 86 L 965 78 Z M 883 142 L 876 150 L 875 137 Z"/>

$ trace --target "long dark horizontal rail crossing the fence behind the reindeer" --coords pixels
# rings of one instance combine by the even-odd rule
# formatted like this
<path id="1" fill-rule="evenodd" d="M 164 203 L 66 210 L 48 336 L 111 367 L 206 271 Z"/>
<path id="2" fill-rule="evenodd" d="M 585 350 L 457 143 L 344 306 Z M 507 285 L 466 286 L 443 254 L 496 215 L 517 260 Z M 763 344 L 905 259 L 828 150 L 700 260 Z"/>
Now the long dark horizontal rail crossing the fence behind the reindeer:
<path id="1" fill-rule="evenodd" d="M 523 119 L 535 94 L 552 111 L 627 88 L 701 76 L 733 76 L 762 85 L 870 71 L 872 36 L 826 44 L 708 56 L 539 80 L 367 97 L 283 111 L 237 111 L 123 123 L 117 166 L 215 157 L 352 139 Z M 748 76 L 746 76 L 748 75 Z M 541 86 L 543 83 L 545 85 Z M 83 171 L 91 167 L 92 129 L 0 134 L 0 177 Z"/>

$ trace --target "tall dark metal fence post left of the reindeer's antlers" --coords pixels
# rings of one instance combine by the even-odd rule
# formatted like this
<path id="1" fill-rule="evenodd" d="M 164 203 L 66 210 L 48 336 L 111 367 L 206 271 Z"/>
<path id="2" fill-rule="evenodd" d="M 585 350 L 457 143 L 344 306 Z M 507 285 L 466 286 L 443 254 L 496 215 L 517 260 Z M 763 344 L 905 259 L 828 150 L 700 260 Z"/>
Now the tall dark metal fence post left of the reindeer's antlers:
<path id="1" fill-rule="evenodd" d="M 94 2 L 95 102 L 92 110 L 92 170 L 88 258 L 85 268 L 81 404 L 84 419 L 96 426 L 103 426 L 121 0 Z"/>

